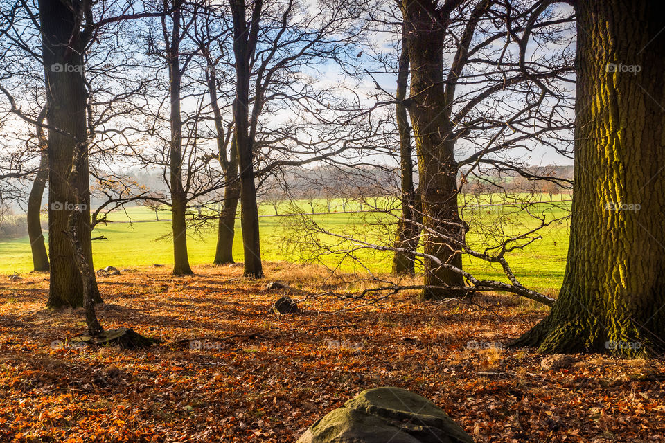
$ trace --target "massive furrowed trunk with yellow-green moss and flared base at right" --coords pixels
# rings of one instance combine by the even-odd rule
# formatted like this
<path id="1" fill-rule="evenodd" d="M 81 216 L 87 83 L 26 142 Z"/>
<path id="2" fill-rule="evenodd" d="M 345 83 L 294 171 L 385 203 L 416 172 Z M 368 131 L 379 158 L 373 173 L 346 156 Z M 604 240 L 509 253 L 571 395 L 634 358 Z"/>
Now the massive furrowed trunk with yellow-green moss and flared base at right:
<path id="1" fill-rule="evenodd" d="M 515 345 L 551 353 L 662 353 L 665 19 L 649 1 L 580 0 L 577 13 L 566 273 L 549 316 Z"/>

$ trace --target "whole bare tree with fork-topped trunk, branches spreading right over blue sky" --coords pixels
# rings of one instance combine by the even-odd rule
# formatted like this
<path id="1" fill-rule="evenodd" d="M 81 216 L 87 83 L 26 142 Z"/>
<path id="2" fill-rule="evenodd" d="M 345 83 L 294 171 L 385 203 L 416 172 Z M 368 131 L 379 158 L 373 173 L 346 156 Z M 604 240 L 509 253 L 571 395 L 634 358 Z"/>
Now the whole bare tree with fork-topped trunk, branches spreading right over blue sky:
<path id="1" fill-rule="evenodd" d="M 232 149 L 240 168 L 245 274 L 261 275 L 258 210 L 252 204 L 261 182 L 281 168 L 328 161 L 364 139 L 354 131 L 357 103 L 339 94 L 342 87 L 322 87 L 314 75 L 319 66 L 329 70 L 355 60 L 362 8 L 339 0 L 229 1 L 229 8 L 233 36 L 224 42 L 233 46 L 220 52 L 232 57 L 220 54 L 215 71 L 220 84 L 235 87 Z M 285 115 L 287 121 L 274 123 Z"/>

